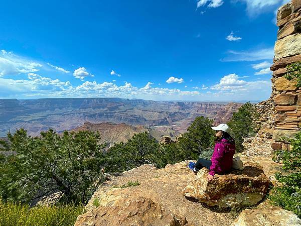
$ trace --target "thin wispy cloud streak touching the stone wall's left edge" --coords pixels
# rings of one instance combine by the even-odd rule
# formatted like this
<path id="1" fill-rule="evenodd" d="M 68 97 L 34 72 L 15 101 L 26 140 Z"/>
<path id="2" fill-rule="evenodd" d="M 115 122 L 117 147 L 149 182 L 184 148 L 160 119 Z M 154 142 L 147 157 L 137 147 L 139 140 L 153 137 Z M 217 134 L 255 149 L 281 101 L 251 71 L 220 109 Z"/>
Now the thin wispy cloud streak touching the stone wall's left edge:
<path id="1" fill-rule="evenodd" d="M 274 57 L 274 48 L 250 50 L 250 51 L 228 51 L 228 56 L 221 59 L 224 62 L 231 61 L 256 61 L 256 60 L 271 60 Z"/>

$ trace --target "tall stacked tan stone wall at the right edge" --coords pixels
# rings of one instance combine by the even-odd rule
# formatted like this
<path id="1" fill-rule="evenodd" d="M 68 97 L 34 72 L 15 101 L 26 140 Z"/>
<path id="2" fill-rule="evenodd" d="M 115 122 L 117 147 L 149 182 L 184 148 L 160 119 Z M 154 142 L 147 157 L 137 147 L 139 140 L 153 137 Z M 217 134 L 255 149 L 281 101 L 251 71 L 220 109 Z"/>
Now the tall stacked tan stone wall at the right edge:
<path id="1" fill-rule="evenodd" d="M 287 80 L 286 66 L 301 61 L 301 0 L 292 0 L 277 12 L 277 41 L 271 70 L 275 117 L 273 118 L 272 149 L 288 149 L 282 137 L 293 138 L 300 132 L 301 88 L 296 78 Z"/>

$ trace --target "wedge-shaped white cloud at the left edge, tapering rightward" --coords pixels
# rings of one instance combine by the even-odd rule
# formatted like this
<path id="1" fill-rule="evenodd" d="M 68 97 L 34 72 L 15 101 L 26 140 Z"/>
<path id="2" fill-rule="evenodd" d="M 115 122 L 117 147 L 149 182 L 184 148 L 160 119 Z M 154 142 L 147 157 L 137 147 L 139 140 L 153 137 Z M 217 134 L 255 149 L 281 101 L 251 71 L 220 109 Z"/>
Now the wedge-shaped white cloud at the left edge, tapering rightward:
<path id="1" fill-rule="evenodd" d="M 1 50 L 0 76 L 17 75 L 21 73 L 37 72 L 42 64 L 20 57 L 12 52 Z"/>

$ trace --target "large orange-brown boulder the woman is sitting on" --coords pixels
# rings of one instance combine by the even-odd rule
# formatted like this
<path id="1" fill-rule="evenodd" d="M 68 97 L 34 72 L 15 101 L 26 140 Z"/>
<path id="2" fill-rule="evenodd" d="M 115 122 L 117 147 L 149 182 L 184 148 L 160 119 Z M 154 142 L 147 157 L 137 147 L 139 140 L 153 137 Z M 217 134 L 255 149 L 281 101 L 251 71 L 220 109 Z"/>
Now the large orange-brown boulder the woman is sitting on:
<path id="1" fill-rule="evenodd" d="M 244 164 L 244 170 L 232 170 L 207 180 L 208 170 L 201 169 L 195 179 L 183 189 L 186 197 L 193 197 L 207 205 L 228 207 L 254 205 L 266 194 L 269 180 L 260 166 Z"/>

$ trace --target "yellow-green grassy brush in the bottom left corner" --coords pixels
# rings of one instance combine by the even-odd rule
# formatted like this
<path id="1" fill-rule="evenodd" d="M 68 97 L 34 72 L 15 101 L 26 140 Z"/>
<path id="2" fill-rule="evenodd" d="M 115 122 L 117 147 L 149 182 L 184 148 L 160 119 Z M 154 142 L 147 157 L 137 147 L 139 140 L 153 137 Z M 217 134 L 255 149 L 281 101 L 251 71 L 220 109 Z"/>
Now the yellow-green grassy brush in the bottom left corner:
<path id="1" fill-rule="evenodd" d="M 6 226 L 67 226 L 74 225 L 83 211 L 82 205 L 36 206 L 3 203 L 0 200 L 0 225 Z"/>

